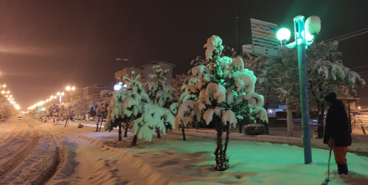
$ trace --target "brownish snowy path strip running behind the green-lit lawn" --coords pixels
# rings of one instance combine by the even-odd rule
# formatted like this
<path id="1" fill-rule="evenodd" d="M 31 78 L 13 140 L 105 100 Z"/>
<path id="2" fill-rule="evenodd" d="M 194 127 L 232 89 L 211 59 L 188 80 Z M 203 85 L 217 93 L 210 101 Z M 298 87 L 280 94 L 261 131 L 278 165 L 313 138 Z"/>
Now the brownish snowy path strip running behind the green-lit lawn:
<path id="1" fill-rule="evenodd" d="M 329 149 L 326 144 L 323 144 L 323 139 L 315 139 L 317 133 L 315 132 L 317 128 L 311 128 L 311 146 L 312 148 L 323 148 Z M 243 131 L 244 132 L 244 131 Z M 245 140 L 254 142 L 269 142 L 276 144 L 288 144 L 293 146 L 303 146 L 303 138 L 301 128 L 294 128 L 294 137 L 287 137 L 287 131 L 285 127 L 271 127 L 269 128 L 270 135 L 258 135 L 249 136 L 244 133 L 239 133 L 238 128 L 232 128 L 230 133 L 231 140 Z M 362 132 L 362 131 L 361 131 Z M 180 130 L 168 131 L 167 134 L 182 135 Z M 214 129 L 204 129 L 200 128 L 196 130 L 185 129 L 186 136 L 197 136 L 205 138 L 215 138 L 216 131 Z M 223 135 L 225 136 L 225 134 Z M 368 135 L 354 131 L 352 133 L 352 145 L 348 147 L 348 152 L 356 153 L 358 155 L 368 156 Z"/>

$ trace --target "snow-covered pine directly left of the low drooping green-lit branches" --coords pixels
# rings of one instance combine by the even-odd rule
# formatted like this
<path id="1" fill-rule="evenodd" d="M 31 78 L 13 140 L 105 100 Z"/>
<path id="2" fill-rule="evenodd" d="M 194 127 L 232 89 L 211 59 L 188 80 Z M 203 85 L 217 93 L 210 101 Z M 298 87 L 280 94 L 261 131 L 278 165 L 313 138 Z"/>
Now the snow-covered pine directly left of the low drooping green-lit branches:
<path id="1" fill-rule="evenodd" d="M 142 114 L 142 104 L 150 102 L 148 94 L 142 88 L 139 81 L 140 75 L 131 72 L 131 78 L 124 76 L 127 86 L 123 90 L 115 90 L 111 97 L 108 115 L 105 123 L 105 130 L 111 131 L 113 128 L 119 127 L 119 141 L 122 140 L 122 123 L 125 123 L 127 131 L 130 123 L 140 117 Z M 136 136 L 135 136 L 136 138 Z"/>

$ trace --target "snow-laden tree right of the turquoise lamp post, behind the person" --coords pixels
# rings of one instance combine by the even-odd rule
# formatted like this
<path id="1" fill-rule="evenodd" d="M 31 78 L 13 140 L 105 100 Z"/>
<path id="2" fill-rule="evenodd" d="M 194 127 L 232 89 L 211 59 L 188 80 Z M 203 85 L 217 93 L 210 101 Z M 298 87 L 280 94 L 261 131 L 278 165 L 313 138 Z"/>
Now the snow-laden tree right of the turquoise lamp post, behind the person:
<path id="1" fill-rule="evenodd" d="M 340 60 L 341 52 L 337 50 L 338 42 L 318 43 L 307 50 L 307 73 L 311 101 L 318 110 L 318 138 L 324 135 L 323 96 L 333 90 L 340 96 L 357 96 L 357 87 L 363 87 L 366 81 L 356 72 L 350 71 Z"/>

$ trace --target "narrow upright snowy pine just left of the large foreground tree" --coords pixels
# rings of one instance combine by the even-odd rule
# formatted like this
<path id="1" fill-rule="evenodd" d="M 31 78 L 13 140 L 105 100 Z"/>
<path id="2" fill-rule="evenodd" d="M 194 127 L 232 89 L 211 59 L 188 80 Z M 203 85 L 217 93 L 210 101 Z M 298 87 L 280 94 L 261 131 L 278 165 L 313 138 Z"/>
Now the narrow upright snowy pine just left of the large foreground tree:
<path id="1" fill-rule="evenodd" d="M 146 90 L 148 96 L 150 97 L 151 101 L 158 105 L 159 107 L 162 107 L 164 109 L 167 109 L 171 111 L 173 115 L 176 115 L 178 107 L 179 107 L 179 98 L 176 95 L 176 89 L 170 86 L 167 83 L 167 79 L 165 78 L 165 75 L 167 74 L 168 70 L 163 70 L 160 65 L 153 66 L 153 72 L 154 74 L 150 74 L 149 76 L 153 79 L 150 82 L 146 82 L 143 84 L 143 88 Z M 174 116 L 170 117 L 174 117 Z M 160 122 L 163 122 L 162 120 L 157 120 Z M 160 124 L 157 124 L 159 127 L 161 127 Z M 160 128 L 157 127 L 157 137 L 161 138 L 161 132 Z M 171 125 L 165 125 L 166 129 L 170 128 Z"/>

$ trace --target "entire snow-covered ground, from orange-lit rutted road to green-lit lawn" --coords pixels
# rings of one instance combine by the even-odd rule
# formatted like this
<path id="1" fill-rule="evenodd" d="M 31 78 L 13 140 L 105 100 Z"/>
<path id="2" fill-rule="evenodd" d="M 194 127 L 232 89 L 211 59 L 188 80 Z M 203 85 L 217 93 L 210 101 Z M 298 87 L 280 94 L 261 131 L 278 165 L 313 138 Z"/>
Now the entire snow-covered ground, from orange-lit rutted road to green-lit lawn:
<path id="1" fill-rule="evenodd" d="M 0 185 L 319 185 L 327 177 L 327 149 L 312 148 L 313 162 L 304 164 L 303 148 L 265 142 L 292 143 L 300 137 L 233 132 L 230 168 L 217 172 L 212 168 L 215 141 L 205 138 L 214 137 L 210 130 L 188 129 L 188 135 L 202 136 L 187 136 L 188 141 L 178 131 L 168 132 L 130 147 L 131 133 L 118 142 L 117 130 L 95 132 L 23 116 L 0 122 L 0 133 Z M 368 136 L 357 136 L 358 148 L 368 153 Z M 263 142 L 244 141 L 251 139 Z M 320 141 L 312 139 L 312 144 L 323 147 Z M 332 156 L 328 185 L 368 184 L 368 157 L 348 153 L 347 159 L 352 177 L 336 175 Z"/>

